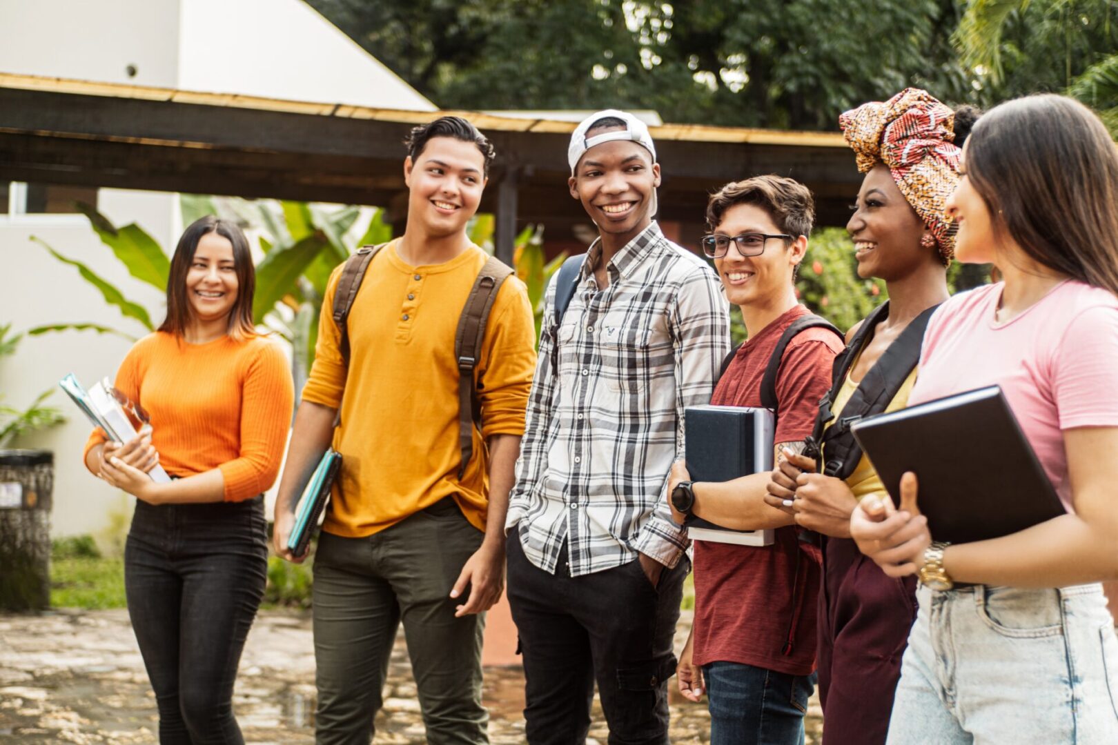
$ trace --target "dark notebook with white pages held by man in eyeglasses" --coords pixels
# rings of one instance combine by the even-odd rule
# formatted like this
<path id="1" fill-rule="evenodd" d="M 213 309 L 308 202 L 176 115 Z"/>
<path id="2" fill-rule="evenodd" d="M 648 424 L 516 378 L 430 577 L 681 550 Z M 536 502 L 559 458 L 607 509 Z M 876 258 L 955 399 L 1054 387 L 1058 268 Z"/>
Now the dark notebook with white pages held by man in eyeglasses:
<path id="1" fill-rule="evenodd" d="M 684 410 L 686 465 L 692 481 L 729 481 L 773 470 L 773 412 L 747 407 L 688 407 Z M 767 546 L 773 531 L 733 531 L 690 516 L 693 541 Z"/>

